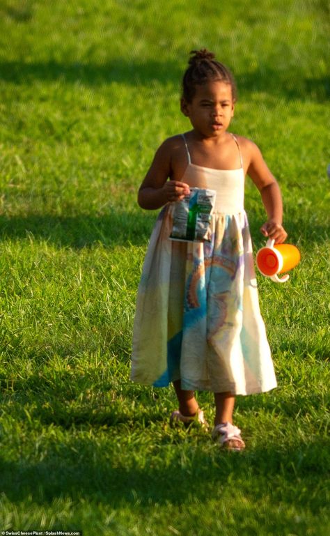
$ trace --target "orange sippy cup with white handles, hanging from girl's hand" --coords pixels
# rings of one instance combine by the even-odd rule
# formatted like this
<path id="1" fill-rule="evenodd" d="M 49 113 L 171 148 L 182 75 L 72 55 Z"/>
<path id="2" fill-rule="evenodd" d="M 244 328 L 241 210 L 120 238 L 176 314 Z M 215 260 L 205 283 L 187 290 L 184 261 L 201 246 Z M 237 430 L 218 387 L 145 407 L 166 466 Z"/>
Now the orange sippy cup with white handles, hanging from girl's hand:
<path id="1" fill-rule="evenodd" d="M 278 274 L 287 272 L 297 266 L 300 253 L 295 245 L 275 244 L 275 240 L 267 240 L 266 247 L 262 247 L 256 255 L 256 264 L 262 275 L 270 277 L 276 283 L 285 283 L 289 275 L 278 277 Z"/>

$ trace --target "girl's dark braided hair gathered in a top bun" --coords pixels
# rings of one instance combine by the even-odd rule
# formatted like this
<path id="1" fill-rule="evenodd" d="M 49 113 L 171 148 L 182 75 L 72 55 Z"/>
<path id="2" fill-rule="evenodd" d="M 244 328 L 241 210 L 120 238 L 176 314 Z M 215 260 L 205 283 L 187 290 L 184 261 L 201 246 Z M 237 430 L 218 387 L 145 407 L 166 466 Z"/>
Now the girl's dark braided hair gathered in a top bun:
<path id="1" fill-rule="evenodd" d="M 233 101 L 237 100 L 235 79 L 230 70 L 215 59 L 213 52 L 206 48 L 191 50 L 194 54 L 189 59 L 189 67 L 182 79 L 182 98 L 191 102 L 196 93 L 196 86 L 206 84 L 211 80 L 219 80 L 231 86 Z"/>

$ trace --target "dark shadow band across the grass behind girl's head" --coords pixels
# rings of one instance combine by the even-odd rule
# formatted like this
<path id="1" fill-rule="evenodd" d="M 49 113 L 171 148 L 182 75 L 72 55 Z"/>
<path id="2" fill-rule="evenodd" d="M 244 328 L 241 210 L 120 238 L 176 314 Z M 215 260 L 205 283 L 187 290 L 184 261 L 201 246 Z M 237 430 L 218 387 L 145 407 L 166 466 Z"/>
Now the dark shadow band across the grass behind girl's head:
<path id="1" fill-rule="evenodd" d="M 178 89 L 184 66 L 177 61 L 127 61 L 114 59 L 109 63 L 24 63 L 8 61 L 0 63 L 0 79 L 13 84 L 32 83 L 34 80 L 52 82 L 61 79 L 74 84 L 80 82 L 88 86 L 98 86 L 118 82 L 120 84 L 150 85 L 150 82 L 177 84 Z M 264 92 L 287 99 L 311 99 L 325 102 L 330 96 L 330 82 L 327 77 L 301 77 L 301 72 L 262 68 L 236 76 L 241 95 Z"/>

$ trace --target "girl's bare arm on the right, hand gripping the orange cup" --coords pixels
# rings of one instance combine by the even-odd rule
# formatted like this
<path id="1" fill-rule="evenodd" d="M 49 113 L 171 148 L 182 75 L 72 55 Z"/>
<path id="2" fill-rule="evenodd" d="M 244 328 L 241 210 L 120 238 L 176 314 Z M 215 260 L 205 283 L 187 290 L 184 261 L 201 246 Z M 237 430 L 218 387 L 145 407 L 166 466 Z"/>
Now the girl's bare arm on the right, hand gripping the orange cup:
<path id="1" fill-rule="evenodd" d="M 258 146 L 252 141 L 248 143 L 250 158 L 247 173 L 260 192 L 268 216 L 267 222 L 262 225 L 260 231 L 264 236 L 275 240 L 275 243 L 283 243 L 288 233 L 282 225 L 283 204 L 280 187 L 262 158 Z"/>

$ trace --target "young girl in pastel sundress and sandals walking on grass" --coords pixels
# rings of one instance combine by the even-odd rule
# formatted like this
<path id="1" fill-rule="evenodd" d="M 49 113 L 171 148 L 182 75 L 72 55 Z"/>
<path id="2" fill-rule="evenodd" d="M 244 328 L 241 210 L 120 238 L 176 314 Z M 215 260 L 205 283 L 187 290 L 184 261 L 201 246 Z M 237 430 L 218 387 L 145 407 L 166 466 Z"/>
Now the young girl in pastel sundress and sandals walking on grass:
<path id="1" fill-rule="evenodd" d="M 244 441 L 233 425 L 235 396 L 276 387 L 244 212 L 246 174 L 267 213 L 262 234 L 281 243 L 287 233 L 281 192 L 259 148 L 228 132 L 236 101 L 233 76 L 212 52 L 191 54 L 181 111 L 192 130 L 164 141 L 139 189 L 142 208 L 164 208 L 143 265 L 131 377 L 157 387 L 173 383 L 178 411 L 172 424 L 206 426 L 194 391 L 214 392 L 212 436 L 223 447 L 242 450 Z M 210 241 L 169 238 L 175 204 L 190 187 L 216 192 Z"/>

